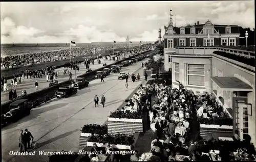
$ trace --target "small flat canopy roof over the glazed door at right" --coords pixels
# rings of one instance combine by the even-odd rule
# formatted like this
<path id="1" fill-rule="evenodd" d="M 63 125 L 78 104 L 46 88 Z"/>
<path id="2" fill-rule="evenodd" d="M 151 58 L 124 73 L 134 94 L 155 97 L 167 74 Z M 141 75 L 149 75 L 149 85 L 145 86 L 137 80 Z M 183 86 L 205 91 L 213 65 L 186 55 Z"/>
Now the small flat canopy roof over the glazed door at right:
<path id="1" fill-rule="evenodd" d="M 221 89 L 229 89 L 231 91 L 251 91 L 252 87 L 247 83 L 244 83 L 237 77 L 234 76 L 215 76 L 211 77 L 212 81 L 215 82 Z"/>

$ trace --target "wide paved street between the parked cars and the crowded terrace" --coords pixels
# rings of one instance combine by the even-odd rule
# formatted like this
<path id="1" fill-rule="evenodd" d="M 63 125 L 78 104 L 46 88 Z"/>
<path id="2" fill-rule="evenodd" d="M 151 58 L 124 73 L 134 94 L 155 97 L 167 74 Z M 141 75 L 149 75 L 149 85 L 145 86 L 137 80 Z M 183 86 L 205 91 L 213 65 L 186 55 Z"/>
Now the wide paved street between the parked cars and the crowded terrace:
<path id="1" fill-rule="evenodd" d="M 145 60 L 143 61 L 145 62 Z M 110 112 L 115 111 L 123 101 L 140 84 L 145 84 L 141 62 L 123 68 L 121 72 L 140 73 L 141 80 L 132 83 L 129 80 L 129 90 L 125 91 L 125 80 L 118 80 L 118 75 L 112 73 L 105 82 L 100 79 L 90 82 L 88 88 L 79 90 L 76 95 L 68 98 L 53 99 L 33 109 L 28 117 L 10 124 L 2 130 L 2 155 L 8 161 L 48 161 L 47 156 L 10 156 L 11 150 L 18 150 L 19 130 L 28 128 L 35 141 L 40 144 L 36 149 L 45 151 L 77 151 L 79 148 L 79 129 L 84 124 L 103 124 Z M 105 107 L 94 107 L 94 96 L 104 95 Z"/>

